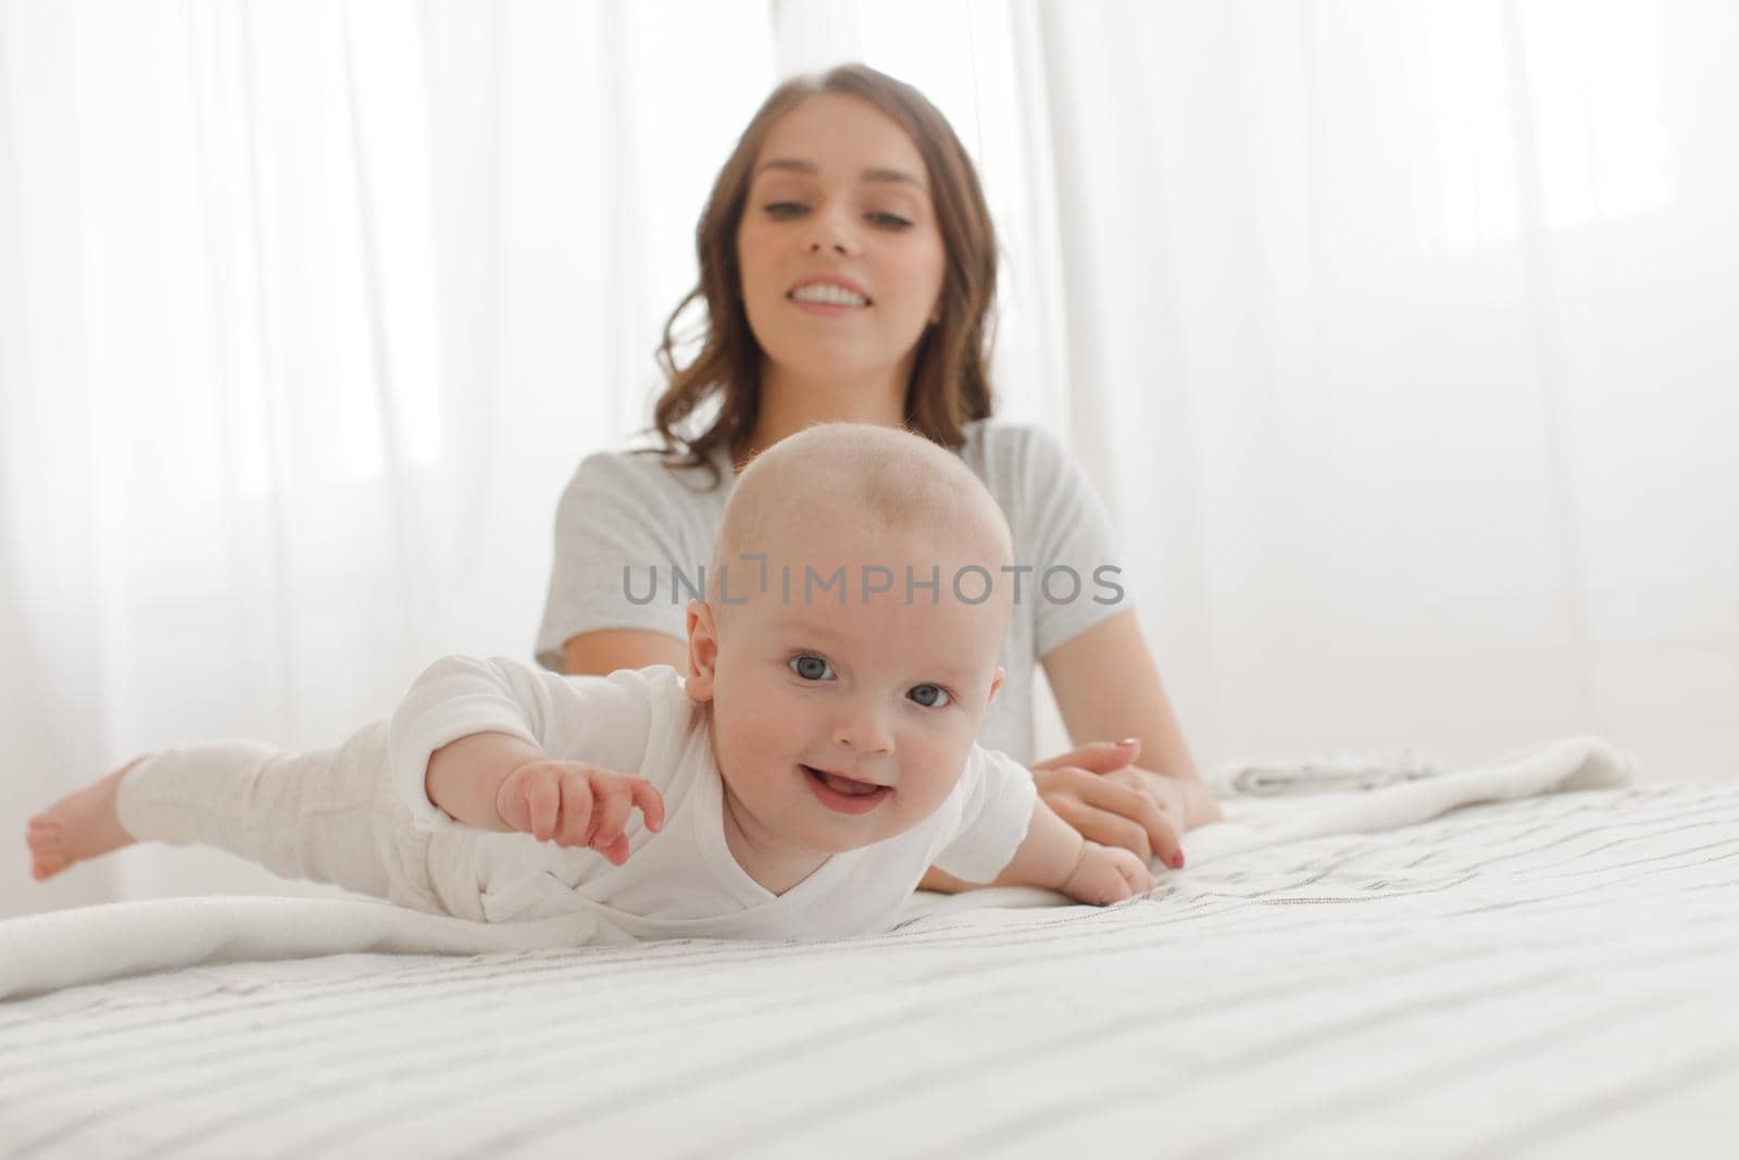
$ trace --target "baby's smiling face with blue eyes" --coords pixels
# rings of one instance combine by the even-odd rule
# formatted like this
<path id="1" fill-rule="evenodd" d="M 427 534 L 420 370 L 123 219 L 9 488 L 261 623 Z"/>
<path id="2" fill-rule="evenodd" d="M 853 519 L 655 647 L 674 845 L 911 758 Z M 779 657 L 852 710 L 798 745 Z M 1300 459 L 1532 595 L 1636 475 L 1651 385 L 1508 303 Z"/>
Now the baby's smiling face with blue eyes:
<path id="1" fill-rule="evenodd" d="M 953 791 L 1002 682 L 1007 607 L 1000 597 L 956 600 L 955 569 L 979 562 L 939 553 L 922 536 L 873 548 L 843 530 L 823 539 L 835 543 L 810 543 L 791 558 L 790 600 L 774 557 L 767 593 L 720 609 L 715 664 L 711 673 L 696 666 L 689 692 L 713 703 L 713 744 L 734 807 L 791 850 L 836 854 L 909 830 Z M 868 602 L 866 563 L 894 576 L 894 590 Z M 908 563 L 918 581 L 939 569 L 937 602 L 929 590 L 908 602 Z M 817 576 L 812 593 L 805 565 Z M 843 605 L 838 586 L 819 591 L 840 565 Z M 755 576 L 753 565 L 743 572 Z M 744 577 L 732 569 L 732 593 L 750 588 Z M 871 586 L 883 579 L 871 576 Z M 713 623 L 710 609 L 692 614 L 690 637 L 697 617 Z"/>

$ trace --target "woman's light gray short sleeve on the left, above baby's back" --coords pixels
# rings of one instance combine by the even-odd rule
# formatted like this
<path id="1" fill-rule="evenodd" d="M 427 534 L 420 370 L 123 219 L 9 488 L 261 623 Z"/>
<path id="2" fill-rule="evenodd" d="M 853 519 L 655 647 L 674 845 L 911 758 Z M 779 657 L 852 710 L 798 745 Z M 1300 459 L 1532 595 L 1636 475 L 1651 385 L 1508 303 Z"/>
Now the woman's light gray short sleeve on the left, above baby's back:
<path id="1" fill-rule="evenodd" d="M 579 464 L 556 504 L 539 664 L 565 671 L 563 645 L 605 628 L 683 638 L 687 602 L 671 597 L 673 569 L 696 576 L 711 553 L 711 543 L 687 543 L 696 513 L 683 504 L 697 510 L 699 496 L 656 456 L 598 452 Z"/>

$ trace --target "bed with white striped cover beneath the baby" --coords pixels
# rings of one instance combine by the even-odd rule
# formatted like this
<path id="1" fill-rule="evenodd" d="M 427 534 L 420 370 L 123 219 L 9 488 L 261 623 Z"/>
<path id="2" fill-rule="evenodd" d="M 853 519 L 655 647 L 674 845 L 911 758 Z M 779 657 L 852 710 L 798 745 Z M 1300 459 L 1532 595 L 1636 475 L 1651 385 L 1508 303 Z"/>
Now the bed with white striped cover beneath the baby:
<path id="1" fill-rule="evenodd" d="M 1492 777 L 1235 800 L 1143 899 L 918 896 L 835 943 L 12 920 L 0 1155 L 1739 1155 L 1739 781 Z M 42 974 L 129 915 L 177 969 Z"/>

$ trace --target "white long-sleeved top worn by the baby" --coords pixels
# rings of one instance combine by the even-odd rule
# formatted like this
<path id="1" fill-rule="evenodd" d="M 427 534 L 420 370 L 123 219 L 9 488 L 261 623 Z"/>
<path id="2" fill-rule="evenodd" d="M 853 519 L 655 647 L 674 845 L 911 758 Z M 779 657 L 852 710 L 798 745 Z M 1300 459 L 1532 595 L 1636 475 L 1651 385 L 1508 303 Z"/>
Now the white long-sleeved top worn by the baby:
<path id="1" fill-rule="evenodd" d="M 630 814 L 630 857 L 461 826 L 424 791 L 430 755 L 473 732 L 503 732 L 548 755 L 650 781 L 664 828 Z M 590 910 L 630 939 L 814 939 L 887 929 L 932 864 L 989 882 L 1026 837 L 1031 774 L 974 746 L 943 805 L 903 835 L 835 854 L 784 894 L 772 894 L 725 845 L 723 790 L 706 710 L 670 666 L 609 677 L 558 677 L 504 659 L 445 657 L 410 687 L 390 723 L 391 777 L 416 824 L 464 830 L 476 859 L 483 917 L 536 920 Z"/>

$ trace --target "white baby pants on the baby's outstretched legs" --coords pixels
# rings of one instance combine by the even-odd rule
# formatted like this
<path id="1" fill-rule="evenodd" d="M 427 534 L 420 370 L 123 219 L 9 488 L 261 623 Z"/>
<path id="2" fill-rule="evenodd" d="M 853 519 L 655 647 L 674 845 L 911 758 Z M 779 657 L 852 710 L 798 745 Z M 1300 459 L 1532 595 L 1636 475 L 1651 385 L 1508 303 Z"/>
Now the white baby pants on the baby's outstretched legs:
<path id="1" fill-rule="evenodd" d="M 165 750 L 122 777 L 117 814 L 141 842 L 216 845 L 285 878 L 483 918 L 475 835 L 417 830 L 393 791 L 386 722 L 336 750 L 256 741 Z"/>

